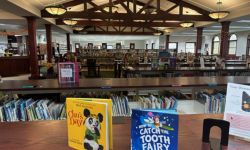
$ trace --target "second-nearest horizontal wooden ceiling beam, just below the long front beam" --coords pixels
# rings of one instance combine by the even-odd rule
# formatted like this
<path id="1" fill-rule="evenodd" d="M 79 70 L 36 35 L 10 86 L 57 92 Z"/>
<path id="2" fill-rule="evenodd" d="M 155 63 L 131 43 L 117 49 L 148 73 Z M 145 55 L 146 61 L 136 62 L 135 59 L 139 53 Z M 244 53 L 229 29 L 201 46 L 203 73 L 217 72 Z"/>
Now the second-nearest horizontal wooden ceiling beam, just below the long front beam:
<path id="1" fill-rule="evenodd" d="M 56 19 L 57 25 L 65 25 L 61 19 Z M 180 27 L 178 22 L 131 22 L 131 21 L 88 21 L 78 20 L 77 25 L 86 26 L 133 26 L 133 27 Z"/>

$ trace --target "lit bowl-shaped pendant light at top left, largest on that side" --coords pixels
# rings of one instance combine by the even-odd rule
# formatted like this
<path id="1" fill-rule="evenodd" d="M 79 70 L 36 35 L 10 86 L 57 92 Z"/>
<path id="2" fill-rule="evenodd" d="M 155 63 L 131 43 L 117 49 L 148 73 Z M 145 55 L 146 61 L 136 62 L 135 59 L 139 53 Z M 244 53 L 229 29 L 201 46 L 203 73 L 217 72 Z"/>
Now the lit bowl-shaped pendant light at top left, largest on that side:
<path id="1" fill-rule="evenodd" d="M 63 5 L 56 5 L 54 1 L 53 5 L 47 6 L 44 8 L 51 15 L 63 15 L 67 12 L 67 9 Z"/>

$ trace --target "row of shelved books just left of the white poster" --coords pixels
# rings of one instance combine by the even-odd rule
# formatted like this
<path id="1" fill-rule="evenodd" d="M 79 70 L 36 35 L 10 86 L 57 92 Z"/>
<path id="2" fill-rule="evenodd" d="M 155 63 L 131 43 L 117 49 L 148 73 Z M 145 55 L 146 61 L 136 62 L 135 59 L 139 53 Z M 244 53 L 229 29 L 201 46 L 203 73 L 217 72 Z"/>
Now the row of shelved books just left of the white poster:
<path id="1" fill-rule="evenodd" d="M 197 99 L 205 104 L 205 113 L 224 113 L 226 96 L 222 93 L 207 94 L 205 92 L 199 92 Z"/>

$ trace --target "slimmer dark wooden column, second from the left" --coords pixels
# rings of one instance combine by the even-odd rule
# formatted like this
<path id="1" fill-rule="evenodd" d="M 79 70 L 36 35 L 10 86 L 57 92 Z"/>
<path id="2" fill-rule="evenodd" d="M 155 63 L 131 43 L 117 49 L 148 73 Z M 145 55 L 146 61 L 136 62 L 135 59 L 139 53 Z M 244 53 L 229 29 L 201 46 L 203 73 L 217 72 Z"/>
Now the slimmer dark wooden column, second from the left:
<path id="1" fill-rule="evenodd" d="M 46 40 L 47 40 L 47 61 L 52 62 L 52 36 L 51 36 L 51 25 L 45 24 L 46 28 Z"/>

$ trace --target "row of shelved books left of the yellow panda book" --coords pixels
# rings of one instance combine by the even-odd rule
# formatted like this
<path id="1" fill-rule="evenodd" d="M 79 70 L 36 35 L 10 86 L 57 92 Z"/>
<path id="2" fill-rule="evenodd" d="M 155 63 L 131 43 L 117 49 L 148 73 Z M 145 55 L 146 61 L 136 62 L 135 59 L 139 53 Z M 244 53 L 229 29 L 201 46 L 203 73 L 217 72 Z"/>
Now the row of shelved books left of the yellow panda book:
<path id="1" fill-rule="evenodd" d="M 17 99 L 0 106 L 0 122 L 60 120 L 66 118 L 65 104 L 43 99 Z"/>

